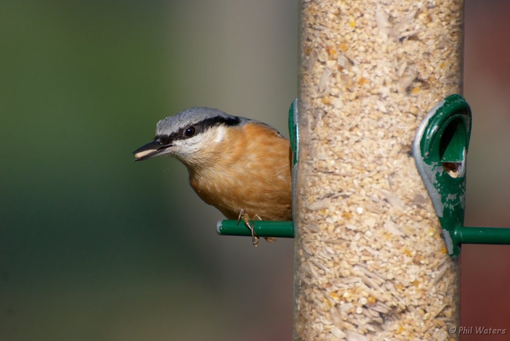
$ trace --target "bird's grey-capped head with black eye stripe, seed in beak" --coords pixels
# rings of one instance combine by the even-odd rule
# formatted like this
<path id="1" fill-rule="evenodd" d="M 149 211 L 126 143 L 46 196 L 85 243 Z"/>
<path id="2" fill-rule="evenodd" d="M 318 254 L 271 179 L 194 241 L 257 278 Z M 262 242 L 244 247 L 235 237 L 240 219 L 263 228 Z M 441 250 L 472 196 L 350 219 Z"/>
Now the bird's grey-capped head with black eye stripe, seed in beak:
<path id="1" fill-rule="evenodd" d="M 248 119 L 211 108 L 190 108 L 158 122 L 153 141 L 133 152 L 135 161 L 170 154 L 188 167 L 199 167 L 212 159 L 229 128 Z"/>

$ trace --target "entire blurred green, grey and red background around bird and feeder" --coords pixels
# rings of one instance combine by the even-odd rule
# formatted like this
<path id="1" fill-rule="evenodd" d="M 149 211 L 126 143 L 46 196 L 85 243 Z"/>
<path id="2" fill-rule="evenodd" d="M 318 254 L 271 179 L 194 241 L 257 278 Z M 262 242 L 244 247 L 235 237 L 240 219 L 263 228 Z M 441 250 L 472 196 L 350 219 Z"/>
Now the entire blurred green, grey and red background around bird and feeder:
<path id="1" fill-rule="evenodd" d="M 483 4 L 466 2 L 466 223 L 510 226 L 510 6 Z M 219 237 L 183 165 L 131 152 L 193 106 L 287 136 L 297 14 L 290 0 L 0 3 L 0 339 L 291 338 L 293 242 Z M 508 264 L 505 246 L 463 250 L 464 325 L 510 327 Z"/>

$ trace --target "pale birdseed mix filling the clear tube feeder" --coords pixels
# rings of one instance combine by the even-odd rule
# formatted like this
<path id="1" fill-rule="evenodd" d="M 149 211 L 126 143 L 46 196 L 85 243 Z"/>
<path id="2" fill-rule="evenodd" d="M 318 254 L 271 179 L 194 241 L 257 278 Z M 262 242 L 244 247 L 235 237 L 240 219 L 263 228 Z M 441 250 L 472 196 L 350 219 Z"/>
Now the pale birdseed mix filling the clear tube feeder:
<path id="1" fill-rule="evenodd" d="M 458 264 L 412 156 L 462 92 L 463 2 L 301 4 L 295 340 L 449 340 Z"/>

